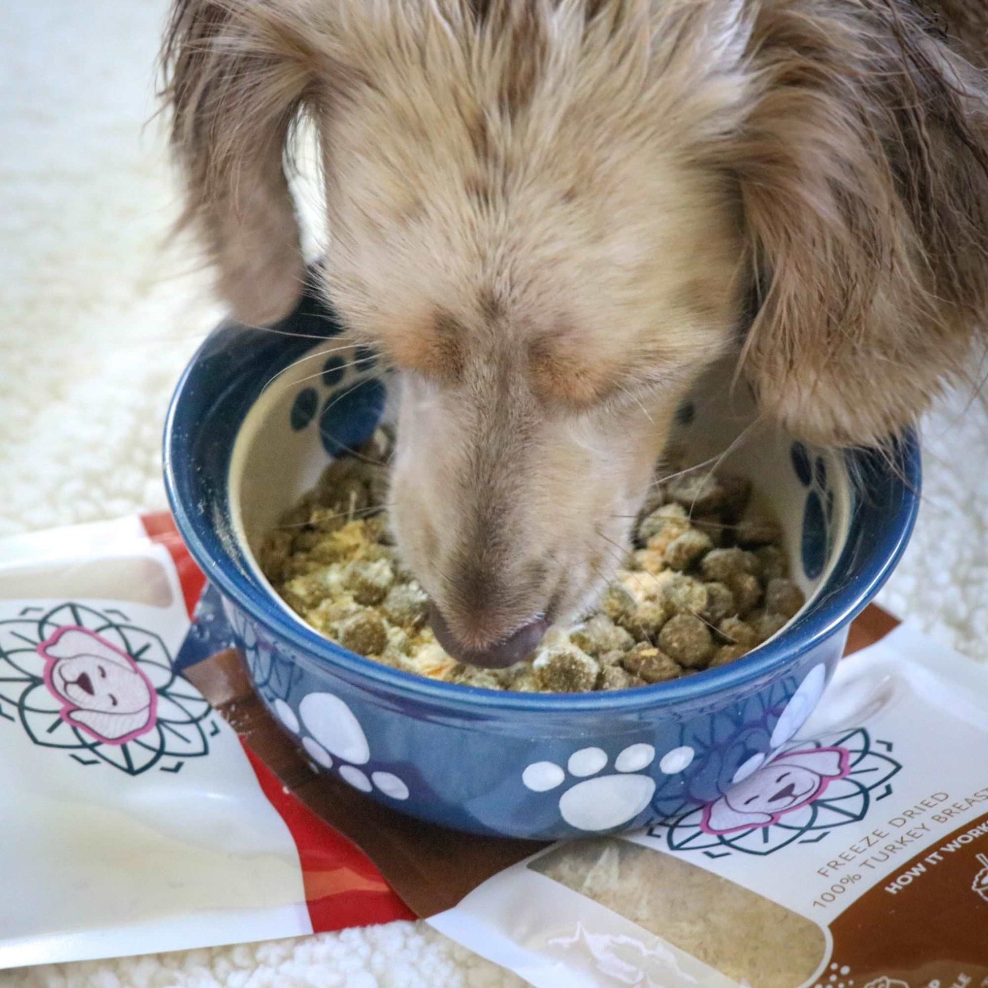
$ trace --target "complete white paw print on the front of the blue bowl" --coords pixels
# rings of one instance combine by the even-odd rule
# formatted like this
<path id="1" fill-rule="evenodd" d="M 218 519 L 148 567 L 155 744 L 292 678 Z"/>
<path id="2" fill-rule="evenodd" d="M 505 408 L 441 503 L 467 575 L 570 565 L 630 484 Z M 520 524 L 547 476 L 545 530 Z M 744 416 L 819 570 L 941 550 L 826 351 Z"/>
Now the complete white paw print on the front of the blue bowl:
<path id="1" fill-rule="evenodd" d="M 683 772 L 695 754 L 689 746 L 674 748 L 662 756 L 659 770 L 664 775 Z M 583 779 L 559 796 L 559 815 L 576 830 L 596 833 L 628 823 L 649 804 L 655 780 L 640 773 L 654 761 L 652 745 L 628 745 L 615 759 L 615 773 L 600 775 L 608 767 L 607 752 L 581 748 L 570 755 L 566 770 L 555 762 L 534 762 L 522 773 L 522 782 L 533 792 L 548 792 L 565 782 L 567 771 Z"/>

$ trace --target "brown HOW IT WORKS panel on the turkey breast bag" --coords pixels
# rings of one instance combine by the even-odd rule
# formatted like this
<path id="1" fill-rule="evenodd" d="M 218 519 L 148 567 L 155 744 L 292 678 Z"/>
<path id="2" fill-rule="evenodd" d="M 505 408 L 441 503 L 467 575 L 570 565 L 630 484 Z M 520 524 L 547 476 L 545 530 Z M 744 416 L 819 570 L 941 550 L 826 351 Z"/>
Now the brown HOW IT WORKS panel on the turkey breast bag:
<path id="1" fill-rule="evenodd" d="M 830 932 L 842 984 L 988 986 L 988 814 L 897 867 Z"/>

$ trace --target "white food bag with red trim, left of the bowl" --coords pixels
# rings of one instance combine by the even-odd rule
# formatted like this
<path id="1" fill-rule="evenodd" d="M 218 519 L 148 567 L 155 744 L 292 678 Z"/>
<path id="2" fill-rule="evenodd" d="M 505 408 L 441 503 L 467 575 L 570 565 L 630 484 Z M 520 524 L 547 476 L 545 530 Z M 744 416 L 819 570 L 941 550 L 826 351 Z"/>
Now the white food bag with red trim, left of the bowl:
<path id="1" fill-rule="evenodd" d="M 204 582 L 167 515 L 0 540 L 0 967 L 411 917 L 183 674 Z"/>

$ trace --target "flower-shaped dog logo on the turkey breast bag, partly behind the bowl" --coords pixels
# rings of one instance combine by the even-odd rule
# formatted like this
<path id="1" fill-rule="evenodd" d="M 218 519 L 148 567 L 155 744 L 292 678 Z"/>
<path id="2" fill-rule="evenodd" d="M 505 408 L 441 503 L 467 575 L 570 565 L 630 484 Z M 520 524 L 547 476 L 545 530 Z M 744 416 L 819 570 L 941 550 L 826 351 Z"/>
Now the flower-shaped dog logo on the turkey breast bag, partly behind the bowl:
<path id="1" fill-rule="evenodd" d="M 719 799 L 649 829 L 671 851 L 765 856 L 860 823 L 902 766 L 864 727 L 783 748 Z"/>

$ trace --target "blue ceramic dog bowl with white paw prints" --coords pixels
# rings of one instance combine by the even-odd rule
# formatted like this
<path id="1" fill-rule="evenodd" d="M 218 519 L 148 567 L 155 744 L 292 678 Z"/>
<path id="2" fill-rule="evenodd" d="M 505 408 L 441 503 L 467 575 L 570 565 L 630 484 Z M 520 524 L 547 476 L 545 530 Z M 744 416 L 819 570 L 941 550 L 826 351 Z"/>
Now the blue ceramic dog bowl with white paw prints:
<path id="1" fill-rule="evenodd" d="M 727 457 L 782 521 L 808 599 L 738 662 L 674 683 L 575 696 L 437 683 L 307 627 L 254 558 L 252 547 L 328 458 L 390 414 L 396 381 L 377 371 L 371 353 L 338 349 L 338 328 L 313 297 L 278 331 L 221 326 L 182 377 L 165 437 L 172 509 L 211 584 L 200 633 L 232 636 L 259 694 L 314 768 L 424 820 L 549 839 L 692 810 L 793 738 L 851 619 L 909 538 L 920 484 L 912 438 L 885 458 L 817 452 L 762 428 Z M 718 384 L 729 372 L 712 371 L 681 409 L 677 442 L 696 462 L 753 420 L 750 396 L 722 376 Z"/>

